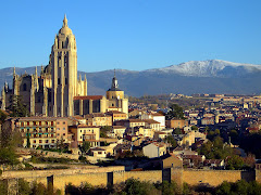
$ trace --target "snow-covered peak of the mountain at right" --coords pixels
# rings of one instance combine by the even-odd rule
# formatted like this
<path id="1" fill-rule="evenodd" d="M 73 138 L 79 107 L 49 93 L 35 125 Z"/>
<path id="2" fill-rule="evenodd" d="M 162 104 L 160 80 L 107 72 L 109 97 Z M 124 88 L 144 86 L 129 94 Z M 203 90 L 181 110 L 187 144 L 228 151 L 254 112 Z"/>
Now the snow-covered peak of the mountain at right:
<path id="1" fill-rule="evenodd" d="M 209 60 L 189 61 L 178 65 L 149 69 L 147 72 L 163 72 L 169 74 L 196 77 L 227 77 L 232 75 L 235 76 L 235 74 L 236 76 L 246 75 L 257 70 L 261 70 L 261 65 L 240 64 L 221 60 Z"/>

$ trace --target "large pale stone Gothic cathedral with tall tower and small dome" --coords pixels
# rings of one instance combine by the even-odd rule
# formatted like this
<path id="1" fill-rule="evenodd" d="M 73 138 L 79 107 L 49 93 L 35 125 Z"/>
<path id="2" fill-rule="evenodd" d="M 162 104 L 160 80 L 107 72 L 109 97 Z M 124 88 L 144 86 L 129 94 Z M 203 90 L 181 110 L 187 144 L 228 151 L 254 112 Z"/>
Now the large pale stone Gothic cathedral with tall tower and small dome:
<path id="1" fill-rule="evenodd" d="M 66 16 L 55 35 L 49 64 L 41 67 L 40 75 L 37 67 L 35 74 L 21 76 L 14 68 L 13 87 L 10 89 L 5 83 L 1 95 L 1 109 L 5 110 L 12 103 L 12 96 L 18 95 L 32 116 L 69 117 L 110 110 L 128 113 L 128 99 L 119 89 L 115 72 L 105 96 L 87 95 L 87 79 L 77 74 L 76 39 L 69 28 Z"/>

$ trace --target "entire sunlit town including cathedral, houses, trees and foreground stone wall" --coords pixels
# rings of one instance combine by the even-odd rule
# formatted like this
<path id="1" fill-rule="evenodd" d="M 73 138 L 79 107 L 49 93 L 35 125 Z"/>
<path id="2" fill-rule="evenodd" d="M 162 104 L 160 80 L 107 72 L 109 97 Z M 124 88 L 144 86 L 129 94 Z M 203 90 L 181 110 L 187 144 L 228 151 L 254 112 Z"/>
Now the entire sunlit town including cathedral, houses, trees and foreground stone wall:
<path id="1" fill-rule="evenodd" d="M 65 193 L 69 183 L 110 186 L 132 179 L 178 186 L 261 182 L 261 96 L 127 96 L 116 72 L 104 95 L 88 95 L 77 73 L 66 16 L 40 75 L 18 76 L 1 92 L 1 179 Z M 10 187 L 11 186 L 11 187 Z M 50 190 L 50 187 L 49 187 Z"/>

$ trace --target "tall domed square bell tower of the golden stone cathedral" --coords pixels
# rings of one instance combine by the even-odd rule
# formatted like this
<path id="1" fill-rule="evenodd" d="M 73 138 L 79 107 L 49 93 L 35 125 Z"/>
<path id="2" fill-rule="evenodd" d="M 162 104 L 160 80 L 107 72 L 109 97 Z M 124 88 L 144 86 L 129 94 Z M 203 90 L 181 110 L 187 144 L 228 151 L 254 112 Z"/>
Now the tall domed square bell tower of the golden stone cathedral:
<path id="1" fill-rule="evenodd" d="M 52 89 L 49 116 L 73 116 L 73 98 L 77 95 L 77 49 L 66 15 L 54 38 L 50 63 Z"/>

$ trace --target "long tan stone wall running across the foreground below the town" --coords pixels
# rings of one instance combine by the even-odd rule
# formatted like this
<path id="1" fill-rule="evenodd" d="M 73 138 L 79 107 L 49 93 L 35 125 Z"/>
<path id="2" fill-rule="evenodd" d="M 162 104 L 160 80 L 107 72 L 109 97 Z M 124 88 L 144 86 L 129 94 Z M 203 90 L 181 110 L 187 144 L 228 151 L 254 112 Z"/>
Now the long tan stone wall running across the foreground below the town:
<path id="1" fill-rule="evenodd" d="M 164 169 L 151 171 L 124 171 L 124 167 L 102 167 L 91 169 L 64 169 L 64 170 L 33 170 L 33 171 L 5 171 L 1 179 L 10 182 L 23 178 L 28 182 L 41 182 L 47 185 L 53 183 L 54 188 L 65 192 L 65 185 L 80 185 L 88 182 L 91 185 L 112 185 L 125 182 L 134 178 L 140 181 L 162 182 L 174 180 L 178 185 L 184 182 L 189 185 L 208 184 L 216 186 L 223 181 L 236 182 L 245 179 L 246 181 L 257 180 L 261 182 L 261 171 L 245 170 L 196 170 L 196 169 Z"/>

